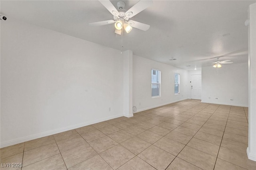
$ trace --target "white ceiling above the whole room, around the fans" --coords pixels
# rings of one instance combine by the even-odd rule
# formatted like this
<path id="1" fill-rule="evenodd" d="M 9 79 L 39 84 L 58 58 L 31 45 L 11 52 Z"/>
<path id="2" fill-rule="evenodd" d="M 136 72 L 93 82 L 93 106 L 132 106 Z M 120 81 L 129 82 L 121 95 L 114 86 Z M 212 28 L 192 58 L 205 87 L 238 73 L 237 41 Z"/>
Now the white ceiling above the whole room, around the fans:
<path id="1" fill-rule="evenodd" d="M 111 0 L 116 7 L 117 0 Z M 138 0 L 124 0 L 128 10 Z M 150 25 L 124 34 L 124 49 L 133 54 L 186 70 L 210 66 L 210 61 L 248 62 L 247 10 L 256 0 L 153 0 L 152 6 L 132 17 Z M 3 1 L 1 14 L 50 30 L 121 50 L 114 24 L 92 27 L 90 22 L 112 19 L 98 0 Z M 1 21 L 2 22 L 2 21 Z M 230 34 L 230 36 L 223 36 Z M 175 61 L 169 59 L 176 58 Z M 190 65 L 189 67 L 187 67 Z"/>

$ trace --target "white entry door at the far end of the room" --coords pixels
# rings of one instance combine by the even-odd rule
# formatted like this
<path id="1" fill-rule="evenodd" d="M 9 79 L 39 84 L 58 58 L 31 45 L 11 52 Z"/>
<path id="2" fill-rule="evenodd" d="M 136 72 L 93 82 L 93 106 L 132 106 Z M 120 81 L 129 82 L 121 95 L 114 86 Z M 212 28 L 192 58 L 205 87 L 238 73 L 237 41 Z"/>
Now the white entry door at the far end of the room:
<path id="1" fill-rule="evenodd" d="M 191 99 L 201 100 L 202 74 L 191 75 Z"/>

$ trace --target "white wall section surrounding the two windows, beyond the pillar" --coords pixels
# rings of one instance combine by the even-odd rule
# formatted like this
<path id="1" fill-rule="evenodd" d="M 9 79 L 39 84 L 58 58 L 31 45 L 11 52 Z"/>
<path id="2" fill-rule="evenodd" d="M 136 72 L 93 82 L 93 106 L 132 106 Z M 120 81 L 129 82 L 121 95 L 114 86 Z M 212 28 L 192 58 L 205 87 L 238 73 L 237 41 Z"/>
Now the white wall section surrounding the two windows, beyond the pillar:
<path id="1" fill-rule="evenodd" d="M 151 98 L 151 69 L 161 70 L 161 97 Z M 180 94 L 174 95 L 174 73 L 180 74 Z M 188 71 L 133 55 L 133 106 L 137 112 L 188 98 Z"/>

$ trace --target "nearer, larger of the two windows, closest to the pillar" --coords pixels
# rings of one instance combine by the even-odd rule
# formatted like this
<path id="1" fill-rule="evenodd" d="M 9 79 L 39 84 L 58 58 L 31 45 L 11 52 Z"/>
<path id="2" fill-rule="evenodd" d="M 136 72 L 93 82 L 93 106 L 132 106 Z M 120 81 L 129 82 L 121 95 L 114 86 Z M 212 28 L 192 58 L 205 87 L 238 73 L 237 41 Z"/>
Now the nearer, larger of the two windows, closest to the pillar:
<path id="1" fill-rule="evenodd" d="M 151 70 L 151 96 L 160 97 L 160 70 Z"/>

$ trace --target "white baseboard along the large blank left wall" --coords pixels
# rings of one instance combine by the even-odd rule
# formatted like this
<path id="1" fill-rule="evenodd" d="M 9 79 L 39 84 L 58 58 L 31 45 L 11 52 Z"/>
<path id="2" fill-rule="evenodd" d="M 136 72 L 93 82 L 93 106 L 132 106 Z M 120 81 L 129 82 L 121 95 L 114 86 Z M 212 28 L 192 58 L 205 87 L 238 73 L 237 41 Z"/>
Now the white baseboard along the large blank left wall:
<path id="1" fill-rule="evenodd" d="M 24 138 L 11 140 L 11 141 L 8 141 L 8 142 L 3 142 L 0 145 L 0 148 L 4 148 L 4 147 L 11 146 L 11 145 L 14 145 L 14 144 L 19 144 L 19 143 L 26 142 L 26 141 L 33 140 L 33 139 L 42 138 L 42 137 L 57 134 L 57 133 L 60 133 L 60 132 L 65 132 L 65 131 L 76 129 L 76 128 L 81 128 L 83 126 L 88 126 L 88 125 L 91 125 L 91 124 L 95 124 L 95 123 L 99 123 L 99 122 L 102 122 L 102 121 L 118 118 L 118 117 L 121 117 L 121 116 L 124 116 L 124 115 L 123 114 L 118 114 L 118 115 L 114 115 L 114 116 L 108 116 L 106 118 L 101 118 L 101 119 L 97 119 L 97 120 L 94 120 L 94 121 L 85 122 L 85 123 L 82 123 L 82 124 L 76 124 L 74 126 L 69 126 L 69 127 L 66 127 L 66 128 L 60 128 L 60 129 L 51 130 L 51 131 L 43 132 L 43 133 L 36 134 L 36 135 L 27 136 L 27 137 L 24 137 Z"/>

